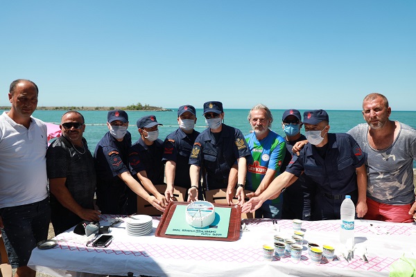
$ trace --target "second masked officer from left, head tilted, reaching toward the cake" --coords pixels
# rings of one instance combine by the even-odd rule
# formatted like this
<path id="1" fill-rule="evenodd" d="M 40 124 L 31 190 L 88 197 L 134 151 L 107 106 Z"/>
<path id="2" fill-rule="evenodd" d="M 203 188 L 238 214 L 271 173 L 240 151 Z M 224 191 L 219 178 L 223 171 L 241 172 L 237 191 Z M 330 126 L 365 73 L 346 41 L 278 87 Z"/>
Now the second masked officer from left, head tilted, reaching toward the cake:
<path id="1" fill-rule="evenodd" d="M 159 137 L 157 126 L 163 125 L 157 122 L 156 116 L 143 116 L 137 120 L 137 128 L 140 134 L 139 140 L 128 150 L 128 161 L 130 169 L 135 179 L 155 195 L 162 207 L 168 204 L 164 195 L 159 193 L 155 184 L 164 184 L 164 164 L 162 163 L 163 148 Z M 128 194 L 130 196 L 130 192 Z M 137 197 L 128 197 L 128 206 L 137 206 Z M 129 211 L 132 213 L 133 211 Z"/>

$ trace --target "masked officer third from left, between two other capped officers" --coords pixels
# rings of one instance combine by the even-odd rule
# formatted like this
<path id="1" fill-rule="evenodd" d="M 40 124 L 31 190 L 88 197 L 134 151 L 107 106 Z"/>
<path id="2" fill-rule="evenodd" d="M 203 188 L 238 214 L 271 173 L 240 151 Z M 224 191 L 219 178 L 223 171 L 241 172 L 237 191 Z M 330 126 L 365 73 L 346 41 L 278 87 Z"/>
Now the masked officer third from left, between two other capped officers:
<path id="1" fill-rule="evenodd" d="M 196 109 L 191 105 L 183 105 L 177 109 L 179 128 L 168 134 L 163 143 L 163 161 L 165 162 L 166 191 L 168 201 L 173 198 L 173 186 L 191 188 L 189 177 L 189 156 L 198 131 L 193 129 L 196 124 Z M 198 179 L 199 180 L 199 179 Z M 198 182 L 198 186 L 199 186 Z M 185 199 L 188 198 L 188 193 Z"/>

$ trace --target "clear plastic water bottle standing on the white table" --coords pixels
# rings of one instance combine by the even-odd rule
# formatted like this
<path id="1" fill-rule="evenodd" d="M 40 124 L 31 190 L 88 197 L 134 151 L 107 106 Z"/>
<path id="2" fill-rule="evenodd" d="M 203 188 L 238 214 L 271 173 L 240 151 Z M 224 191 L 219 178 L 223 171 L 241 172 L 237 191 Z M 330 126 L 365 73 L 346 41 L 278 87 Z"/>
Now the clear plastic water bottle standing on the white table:
<path id="1" fill-rule="evenodd" d="M 351 196 L 345 195 L 345 199 L 341 204 L 340 242 L 342 244 L 345 244 L 349 239 L 352 239 L 354 244 L 354 218 L 354 202 L 352 202 Z"/>

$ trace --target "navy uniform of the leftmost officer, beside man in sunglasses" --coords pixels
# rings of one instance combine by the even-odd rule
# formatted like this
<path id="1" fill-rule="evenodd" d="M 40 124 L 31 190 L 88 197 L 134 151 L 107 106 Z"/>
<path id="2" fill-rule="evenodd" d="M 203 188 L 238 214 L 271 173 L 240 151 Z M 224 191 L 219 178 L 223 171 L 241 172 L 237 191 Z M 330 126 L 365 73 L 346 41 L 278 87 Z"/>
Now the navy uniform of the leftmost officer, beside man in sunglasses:
<path id="1" fill-rule="evenodd" d="M 94 152 L 97 175 L 96 204 L 101 213 L 127 214 L 128 186 L 117 175 L 128 170 L 128 149 L 132 136 L 127 132 L 123 141 L 117 141 L 107 132 Z"/>

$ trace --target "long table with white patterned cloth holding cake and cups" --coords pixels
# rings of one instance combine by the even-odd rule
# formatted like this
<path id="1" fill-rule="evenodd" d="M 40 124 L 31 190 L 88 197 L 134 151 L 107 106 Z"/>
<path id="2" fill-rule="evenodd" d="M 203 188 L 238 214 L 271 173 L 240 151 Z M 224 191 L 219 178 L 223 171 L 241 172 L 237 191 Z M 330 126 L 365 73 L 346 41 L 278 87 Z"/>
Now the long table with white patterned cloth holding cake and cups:
<path id="1" fill-rule="evenodd" d="M 116 216 L 103 215 L 101 225 Z M 272 220 L 243 220 L 248 231 L 235 242 L 212 240 L 182 240 L 155 237 L 160 217 L 153 217 L 153 232 L 144 236 L 130 236 L 125 223 L 112 228 L 114 240 L 109 247 L 85 247 L 85 236 L 71 229 L 58 235 L 53 249 L 33 249 L 28 266 L 54 276 L 76 276 L 75 271 L 93 274 L 126 276 L 388 276 L 389 267 L 406 251 L 415 251 L 416 224 L 394 224 L 356 220 L 357 247 L 367 246 L 369 262 L 357 256 L 347 262 L 333 260 L 314 265 L 309 260 L 308 241 L 331 244 L 340 256 L 339 220 L 303 222 L 304 251 L 300 262 L 289 256 L 271 262 L 262 258 L 262 245 L 272 244 Z M 277 229 L 286 236 L 293 234 L 291 220 L 278 220 Z M 81 239 L 83 238 L 83 239 Z M 416 253 L 416 252 L 415 252 Z"/>

